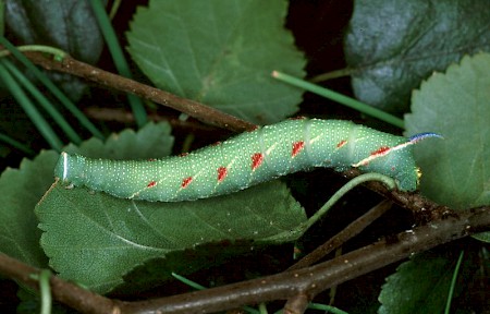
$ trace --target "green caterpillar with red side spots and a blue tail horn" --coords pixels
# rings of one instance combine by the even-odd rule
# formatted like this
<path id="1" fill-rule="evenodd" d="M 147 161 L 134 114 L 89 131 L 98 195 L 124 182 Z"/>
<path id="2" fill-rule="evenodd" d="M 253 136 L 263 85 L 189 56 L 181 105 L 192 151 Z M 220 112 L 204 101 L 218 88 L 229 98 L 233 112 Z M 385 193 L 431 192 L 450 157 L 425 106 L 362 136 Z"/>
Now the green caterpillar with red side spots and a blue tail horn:
<path id="1" fill-rule="evenodd" d="M 61 153 L 54 177 L 113 196 L 177 202 L 232 193 L 286 173 L 350 167 L 393 178 L 401 191 L 420 177 L 412 145 L 439 136 L 395 136 L 343 120 L 293 119 L 189 154 L 159 160 L 91 159 Z"/>

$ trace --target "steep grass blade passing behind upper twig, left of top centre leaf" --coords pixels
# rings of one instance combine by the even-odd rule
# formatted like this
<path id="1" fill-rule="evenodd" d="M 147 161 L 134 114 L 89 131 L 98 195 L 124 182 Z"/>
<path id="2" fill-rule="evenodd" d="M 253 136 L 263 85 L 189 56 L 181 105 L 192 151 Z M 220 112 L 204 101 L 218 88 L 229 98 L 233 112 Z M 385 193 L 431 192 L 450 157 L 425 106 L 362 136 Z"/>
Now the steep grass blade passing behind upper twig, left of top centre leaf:
<path id="1" fill-rule="evenodd" d="M 124 53 L 119 45 L 118 37 L 115 36 L 114 29 L 112 28 L 102 2 L 100 0 L 90 0 L 90 4 L 97 22 L 99 23 L 100 29 L 102 31 L 109 51 L 111 52 L 112 59 L 114 60 L 118 72 L 127 78 L 133 78 L 130 67 L 124 58 Z M 127 101 L 130 101 L 136 124 L 142 128 L 147 121 L 146 111 L 142 99 L 133 94 L 127 94 Z"/>

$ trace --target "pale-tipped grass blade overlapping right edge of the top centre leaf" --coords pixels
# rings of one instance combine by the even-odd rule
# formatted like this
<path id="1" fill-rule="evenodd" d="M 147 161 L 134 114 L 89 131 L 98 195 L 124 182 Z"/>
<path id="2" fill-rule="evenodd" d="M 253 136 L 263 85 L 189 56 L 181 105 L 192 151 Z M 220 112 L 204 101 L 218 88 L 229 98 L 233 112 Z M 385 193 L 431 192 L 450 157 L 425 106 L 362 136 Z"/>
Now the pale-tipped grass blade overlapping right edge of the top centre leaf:
<path id="1" fill-rule="evenodd" d="M 294 76 L 291 76 L 291 75 L 287 75 L 287 74 L 284 74 L 284 73 L 278 72 L 278 71 L 272 72 L 272 76 L 278 78 L 278 80 L 280 80 L 280 81 L 289 83 L 291 85 L 297 86 L 297 87 L 303 88 L 305 90 L 308 90 L 308 92 L 315 93 L 317 95 L 323 96 L 326 98 L 332 99 L 332 100 L 334 100 L 336 102 L 340 102 L 340 104 L 342 104 L 344 106 L 347 106 L 350 108 L 356 109 L 359 112 L 363 112 L 363 113 L 366 113 L 368 116 L 375 117 L 375 118 L 377 118 L 379 120 L 388 122 L 388 123 L 390 123 L 392 125 L 395 125 L 395 126 L 397 126 L 400 129 L 404 129 L 405 128 L 405 124 L 404 124 L 402 119 L 400 119 L 400 118 L 397 118 L 395 116 L 392 116 L 390 113 L 387 113 L 387 112 L 384 112 L 382 110 L 379 110 L 377 108 L 373 108 L 371 106 L 368 106 L 368 105 L 366 105 L 366 104 L 364 104 L 364 102 L 362 102 L 359 100 L 356 100 L 354 98 L 347 97 L 347 96 L 342 95 L 340 93 L 327 89 L 324 87 L 311 84 L 309 82 L 296 78 Z"/>

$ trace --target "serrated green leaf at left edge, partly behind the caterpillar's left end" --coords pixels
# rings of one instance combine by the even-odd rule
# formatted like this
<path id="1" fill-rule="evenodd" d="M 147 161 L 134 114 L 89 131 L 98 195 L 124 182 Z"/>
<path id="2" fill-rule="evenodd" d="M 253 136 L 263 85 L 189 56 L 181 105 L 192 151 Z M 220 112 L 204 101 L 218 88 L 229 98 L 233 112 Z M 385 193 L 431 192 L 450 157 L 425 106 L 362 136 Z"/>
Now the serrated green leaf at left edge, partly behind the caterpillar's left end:
<path id="1" fill-rule="evenodd" d="M 167 156 L 173 143 L 168 124 L 149 123 L 138 133 L 124 131 L 111 135 L 106 144 L 93 138 L 70 153 L 90 157 L 144 158 Z M 124 146 L 130 143 L 131 146 Z M 24 159 L 20 169 L 8 168 L 0 177 L 0 252 L 36 267 L 47 267 L 48 261 L 39 247 L 40 230 L 34 208 L 53 183 L 53 169 L 59 154 L 42 152 L 34 160 Z"/>

